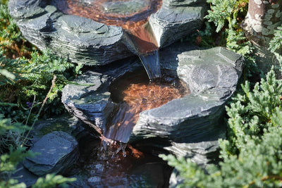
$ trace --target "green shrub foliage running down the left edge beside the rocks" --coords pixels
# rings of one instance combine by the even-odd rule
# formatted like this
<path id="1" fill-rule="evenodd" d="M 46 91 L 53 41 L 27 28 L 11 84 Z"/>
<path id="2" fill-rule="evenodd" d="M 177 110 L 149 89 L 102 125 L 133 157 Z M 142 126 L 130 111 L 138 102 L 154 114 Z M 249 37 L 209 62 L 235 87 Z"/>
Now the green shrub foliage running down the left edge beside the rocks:
<path id="1" fill-rule="evenodd" d="M 0 1 L 0 187 L 20 188 L 26 185 L 13 179 L 13 173 L 25 157 L 36 155 L 26 151 L 28 133 L 41 112 L 61 113 L 61 89 L 81 66 L 27 45 L 6 4 Z M 67 187 L 73 181 L 51 174 L 39 177 L 32 187 Z"/>

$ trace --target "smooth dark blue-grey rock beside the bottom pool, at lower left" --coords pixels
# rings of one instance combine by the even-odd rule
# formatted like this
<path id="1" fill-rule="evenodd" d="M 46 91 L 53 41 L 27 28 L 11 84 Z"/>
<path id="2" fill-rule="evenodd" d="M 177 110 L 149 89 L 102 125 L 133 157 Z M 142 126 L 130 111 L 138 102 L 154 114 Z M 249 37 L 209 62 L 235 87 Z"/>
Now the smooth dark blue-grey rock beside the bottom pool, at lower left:
<path id="1" fill-rule="evenodd" d="M 61 173 L 78 160 L 78 142 L 70 134 L 51 132 L 39 139 L 30 149 L 39 153 L 34 158 L 27 157 L 23 165 L 38 176 Z"/>

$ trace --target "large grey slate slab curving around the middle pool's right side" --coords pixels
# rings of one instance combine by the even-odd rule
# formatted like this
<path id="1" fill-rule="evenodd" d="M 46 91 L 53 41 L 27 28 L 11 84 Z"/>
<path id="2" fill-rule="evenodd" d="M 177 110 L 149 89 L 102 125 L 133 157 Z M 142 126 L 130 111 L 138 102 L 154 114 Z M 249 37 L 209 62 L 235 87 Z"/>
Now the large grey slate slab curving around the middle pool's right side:
<path id="1" fill-rule="evenodd" d="M 224 104 L 235 92 L 243 57 L 222 47 L 193 49 L 185 44 L 169 46 L 160 56 L 163 68 L 186 82 L 191 94 L 141 112 L 130 141 L 214 141 L 214 134 L 224 132 Z"/>

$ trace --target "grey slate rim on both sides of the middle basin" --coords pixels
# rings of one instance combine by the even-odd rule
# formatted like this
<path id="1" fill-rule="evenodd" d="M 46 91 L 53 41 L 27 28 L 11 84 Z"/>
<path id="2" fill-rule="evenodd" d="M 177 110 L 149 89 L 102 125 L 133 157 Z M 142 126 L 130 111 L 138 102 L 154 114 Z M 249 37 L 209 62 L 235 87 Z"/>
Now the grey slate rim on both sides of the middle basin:
<path id="1" fill-rule="evenodd" d="M 160 57 L 162 71 L 179 77 L 191 93 L 142 111 L 125 142 L 196 156 L 195 161 L 206 163 L 203 156 L 214 153 L 217 139 L 225 135 L 224 104 L 235 92 L 243 57 L 223 47 L 198 49 L 185 43 L 168 46 L 160 51 Z M 140 63 L 133 58 L 116 63 L 116 67 L 87 70 L 77 78 L 78 84 L 63 89 L 62 102 L 90 130 L 103 134 L 116 105 L 110 98 L 110 84 L 137 68 Z"/>

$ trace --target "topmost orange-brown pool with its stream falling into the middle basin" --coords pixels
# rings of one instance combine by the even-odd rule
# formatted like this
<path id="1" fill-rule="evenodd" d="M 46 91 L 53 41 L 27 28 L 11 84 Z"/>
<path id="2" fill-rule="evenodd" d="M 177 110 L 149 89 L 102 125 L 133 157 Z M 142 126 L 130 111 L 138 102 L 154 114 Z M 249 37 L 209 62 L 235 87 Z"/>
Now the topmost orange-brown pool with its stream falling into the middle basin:
<path id="1" fill-rule="evenodd" d="M 161 0 L 53 0 L 51 4 L 66 14 L 123 27 L 149 79 L 161 77 L 159 47 L 147 23 L 149 15 L 161 7 Z"/>

